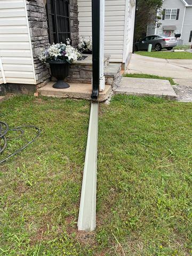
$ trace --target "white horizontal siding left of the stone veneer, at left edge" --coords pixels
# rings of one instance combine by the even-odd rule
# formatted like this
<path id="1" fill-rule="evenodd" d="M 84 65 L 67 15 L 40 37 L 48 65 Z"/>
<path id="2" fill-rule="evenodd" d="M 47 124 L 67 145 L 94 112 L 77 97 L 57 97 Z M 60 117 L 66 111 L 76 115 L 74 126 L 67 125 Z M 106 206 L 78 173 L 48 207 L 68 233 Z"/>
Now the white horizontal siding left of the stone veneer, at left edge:
<path id="1" fill-rule="evenodd" d="M 6 83 L 36 84 L 25 0 L 0 0 L 0 56 Z"/>

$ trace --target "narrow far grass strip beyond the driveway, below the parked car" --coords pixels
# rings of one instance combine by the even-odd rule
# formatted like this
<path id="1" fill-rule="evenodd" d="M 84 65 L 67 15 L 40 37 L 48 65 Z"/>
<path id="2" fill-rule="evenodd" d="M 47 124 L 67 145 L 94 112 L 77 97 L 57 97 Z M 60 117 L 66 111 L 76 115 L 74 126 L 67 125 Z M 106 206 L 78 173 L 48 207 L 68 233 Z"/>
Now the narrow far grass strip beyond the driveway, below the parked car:
<path id="1" fill-rule="evenodd" d="M 135 53 L 143 55 L 143 56 L 147 56 L 147 57 L 154 57 L 154 58 L 161 58 L 161 59 L 192 59 L 192 54 L 190 52 L 138 51 Z"/>

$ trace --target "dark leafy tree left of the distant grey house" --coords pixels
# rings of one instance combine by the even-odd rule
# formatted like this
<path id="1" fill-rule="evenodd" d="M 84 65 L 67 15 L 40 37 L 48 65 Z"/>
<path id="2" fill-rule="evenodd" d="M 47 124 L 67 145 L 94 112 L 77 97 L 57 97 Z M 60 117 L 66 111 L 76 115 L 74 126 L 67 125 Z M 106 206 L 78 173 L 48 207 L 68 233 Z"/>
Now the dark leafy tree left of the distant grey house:
<path id="1" fill-rule="evenodd" d="M 161 10 L 163 1 L 162 0 L 138 0 L 137 1 L 137 12 L 136 12 L 136 26 L 135 26 L 135 41 L 146 36 L 147 25 L 154 23 L 154 26 L 159 25 L 158 20 L 161 19 L 157 15 L 157 11 Z"/>

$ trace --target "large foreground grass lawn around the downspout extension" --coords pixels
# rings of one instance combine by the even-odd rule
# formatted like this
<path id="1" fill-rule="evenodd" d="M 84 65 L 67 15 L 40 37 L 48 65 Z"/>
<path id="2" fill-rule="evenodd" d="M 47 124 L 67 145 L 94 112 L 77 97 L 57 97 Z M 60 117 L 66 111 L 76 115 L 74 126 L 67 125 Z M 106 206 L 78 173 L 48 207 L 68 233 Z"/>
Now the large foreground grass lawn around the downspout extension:
<path id="1" fill-rule="evenodd" d="M 192 104 L 126 95 L 100 104 L 97 230 L 86 234 L 76 222 L 89 108 L 29 96 L 0 103 L 10 126 L 42 129 L 0 167 L 0 255 L 190 255 Z"/>

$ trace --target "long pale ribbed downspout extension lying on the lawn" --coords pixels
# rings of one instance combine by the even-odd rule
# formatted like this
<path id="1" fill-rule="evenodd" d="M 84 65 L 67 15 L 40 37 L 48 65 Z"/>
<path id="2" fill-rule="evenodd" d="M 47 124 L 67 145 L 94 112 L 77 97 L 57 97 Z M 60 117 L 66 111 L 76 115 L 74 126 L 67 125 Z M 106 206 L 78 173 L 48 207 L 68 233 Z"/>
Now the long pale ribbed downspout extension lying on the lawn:
<path id="1" fill-rule="evenodd" d="M 96 193 L 97 193 L 97 146 L 98 146 L 98 112 L 99 103 L 91 103 L 89 131 L 81 203 L 78 217 L 78 230 L 93 231 L 95 229 Z"/>

